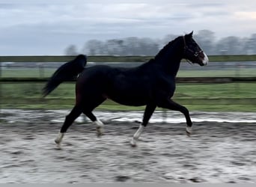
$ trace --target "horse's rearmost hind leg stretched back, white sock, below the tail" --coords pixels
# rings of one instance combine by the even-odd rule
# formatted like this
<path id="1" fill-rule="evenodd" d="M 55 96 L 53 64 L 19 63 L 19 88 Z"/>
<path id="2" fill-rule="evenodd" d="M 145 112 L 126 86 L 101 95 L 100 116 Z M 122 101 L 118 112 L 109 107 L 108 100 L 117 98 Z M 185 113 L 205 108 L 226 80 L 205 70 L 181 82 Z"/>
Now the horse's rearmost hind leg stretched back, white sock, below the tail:
<path id="1" fill-rule="evenodd" d="M 72 125 L 73 121 L 82 113 L 82 108 L 79 105 L 75 105 L 70 114 L 65 118 L 64 124 L 61 127 L 61 131 L 58 133 L 58 137 L 55 139 L 55 143 L 60 145 L 64 133 L 67 132 L 67 129 Z"/>

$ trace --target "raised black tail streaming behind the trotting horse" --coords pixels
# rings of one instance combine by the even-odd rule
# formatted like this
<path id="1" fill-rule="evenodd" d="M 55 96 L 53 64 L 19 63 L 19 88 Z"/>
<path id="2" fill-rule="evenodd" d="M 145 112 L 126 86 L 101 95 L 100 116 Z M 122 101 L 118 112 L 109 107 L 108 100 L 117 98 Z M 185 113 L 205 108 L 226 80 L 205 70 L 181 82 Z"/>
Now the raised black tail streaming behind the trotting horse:
<path id="1" fill-rule="evenodd" d="M 79 73 L 85 70 L 85 65 L 87 63 L 87 58 L 85 55 L 78 55 L 72 61 L 63 64 L 58 70 L 53 73 L 52 77 L 46 83 L 43 88 L 43 96 L 47 96 L 55 88 L 58 87 L 64 81 L 71 81 L 75 79 Z"/>

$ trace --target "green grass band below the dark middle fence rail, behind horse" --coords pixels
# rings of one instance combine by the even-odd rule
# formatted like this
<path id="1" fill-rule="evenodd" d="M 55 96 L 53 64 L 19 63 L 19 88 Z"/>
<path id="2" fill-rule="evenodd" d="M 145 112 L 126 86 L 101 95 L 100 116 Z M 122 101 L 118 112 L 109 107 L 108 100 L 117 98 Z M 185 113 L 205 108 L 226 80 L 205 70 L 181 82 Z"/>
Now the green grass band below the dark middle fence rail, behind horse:
<path id="1" fill-rule="evenodd" d="M 60 85 L 42 98 L 43 83 L 1 84 L 2 108 L 72 108 L 75 102 L 75 83 Z M 177 85 L 173 99 L 198 111 L 256 111 L 256 83 L 209 85 Z M 98 109 L 141 110 L 107 100 Z"/>

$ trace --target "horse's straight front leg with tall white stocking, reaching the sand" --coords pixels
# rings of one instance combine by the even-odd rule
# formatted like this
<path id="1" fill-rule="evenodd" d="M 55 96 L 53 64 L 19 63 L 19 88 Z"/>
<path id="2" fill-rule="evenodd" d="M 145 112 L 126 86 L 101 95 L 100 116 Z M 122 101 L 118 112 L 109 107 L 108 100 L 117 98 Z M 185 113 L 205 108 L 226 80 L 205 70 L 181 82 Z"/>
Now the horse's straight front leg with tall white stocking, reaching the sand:
<path id="1" fill-rule="evenodd" d="M 147 126 L 147 123 L 150 120 L 150 117 L 153 114 L 153 111 L 155 111 L 155 109 L 156 109 L 156 105 L 154 105 L 154 104 L 149 104 L 146 106 L 142 123 L 138 127 L 138 130 L 135 132 L 135 134 L 132 137 L 132 141 L 131 141 L 132 147 L 135 147 L 137 145 L 138 138 L 141 136 L 141 133 L 142 133 L 144 127 Z"/>

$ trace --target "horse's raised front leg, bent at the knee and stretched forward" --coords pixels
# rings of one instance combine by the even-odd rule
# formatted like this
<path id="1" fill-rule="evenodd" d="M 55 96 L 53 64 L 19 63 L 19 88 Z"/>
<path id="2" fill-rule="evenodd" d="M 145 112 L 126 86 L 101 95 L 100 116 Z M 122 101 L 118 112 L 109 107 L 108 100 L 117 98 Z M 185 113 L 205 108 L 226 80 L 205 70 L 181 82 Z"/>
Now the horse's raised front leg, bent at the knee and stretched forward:
<path id="1" fill-rule="evenodd" d="M 157 106 L 161 108 L 168 108 L 174 111 L 180 111 L 181 113 L 183 113 L 184 116 L 186 117 L 186 134 L 192 134 L 192 121 L 189 115 L 189 110 L 185 106 L 180 105 L 177 102 L 174 102 L 172 99 L 166 99 L 165 101 L 162 100 L 161 102 L 159 102 Z"/>

